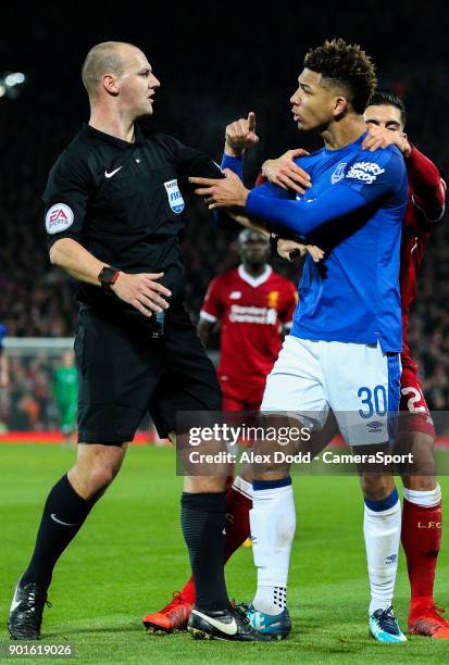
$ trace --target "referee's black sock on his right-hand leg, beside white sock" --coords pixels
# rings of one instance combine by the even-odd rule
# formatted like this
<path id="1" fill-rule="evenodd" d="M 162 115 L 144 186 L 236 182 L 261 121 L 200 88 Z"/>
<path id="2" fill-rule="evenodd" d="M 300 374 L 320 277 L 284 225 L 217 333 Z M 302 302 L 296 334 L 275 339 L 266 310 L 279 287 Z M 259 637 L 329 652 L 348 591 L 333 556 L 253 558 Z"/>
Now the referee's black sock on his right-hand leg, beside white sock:
<path id="1" fill-rule="evenodd" d="M 225 492 L 184 492 L 180 526 L 194 573 L 195 606 L 204 612 L 228 608 L 224 578 Z"/>

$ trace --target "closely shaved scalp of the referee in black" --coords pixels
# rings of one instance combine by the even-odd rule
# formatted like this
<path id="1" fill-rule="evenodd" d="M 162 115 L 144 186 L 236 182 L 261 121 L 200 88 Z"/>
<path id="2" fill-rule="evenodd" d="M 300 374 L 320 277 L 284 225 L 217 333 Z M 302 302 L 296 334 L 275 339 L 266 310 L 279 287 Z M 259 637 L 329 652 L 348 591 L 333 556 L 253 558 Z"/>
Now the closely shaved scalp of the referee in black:
<path id="1" fill-rule="evenodd" d="M 122 76 L 126 55 L 138 51 L 137 47 L 126 41 L 103 41 L 92 47 L 83 64 L 82 77 L 90 98 L 95 98 L 102 77 L 105 74 Z"/>

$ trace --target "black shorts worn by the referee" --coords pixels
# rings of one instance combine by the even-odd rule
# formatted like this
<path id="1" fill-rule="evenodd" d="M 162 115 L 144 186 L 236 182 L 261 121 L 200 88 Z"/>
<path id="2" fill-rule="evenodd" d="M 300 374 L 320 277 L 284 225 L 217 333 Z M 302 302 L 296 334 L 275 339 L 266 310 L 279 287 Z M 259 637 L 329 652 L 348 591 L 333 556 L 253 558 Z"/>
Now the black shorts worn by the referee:
<path id="1" fill-rule="evenodd" d="M 150 412 L 160 437 L 176 431 L 177 411 L 220 411 L 222 393 L 187 312 L 169 310 L 164 336 L 83 306 L 75 339 L 79 372 L 78 440 L 132 441 Z"/>

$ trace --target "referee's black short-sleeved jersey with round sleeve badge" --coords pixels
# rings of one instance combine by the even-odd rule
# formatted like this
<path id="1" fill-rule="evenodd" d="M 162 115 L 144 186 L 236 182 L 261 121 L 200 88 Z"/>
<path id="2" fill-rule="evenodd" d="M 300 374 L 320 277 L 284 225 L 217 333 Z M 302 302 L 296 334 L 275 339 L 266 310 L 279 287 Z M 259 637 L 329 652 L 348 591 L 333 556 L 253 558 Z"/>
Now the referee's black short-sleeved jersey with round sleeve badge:
<path id="1" fill-rule="evenodd" d="M 55 162 L 43 192 L 49 248 L 73 238 L 125 273 L 164 273 L 161 283 L 172 300 L 182 299 L 179 185 L 190 175 L 220 177 L 221 171 L 211 158 L 171 136 L 148 137 L 136 125 L 136 140 L 129 143 L 86 125 Z M 79 283 L 78 300 L 145 319 L 100 287 Z"/>

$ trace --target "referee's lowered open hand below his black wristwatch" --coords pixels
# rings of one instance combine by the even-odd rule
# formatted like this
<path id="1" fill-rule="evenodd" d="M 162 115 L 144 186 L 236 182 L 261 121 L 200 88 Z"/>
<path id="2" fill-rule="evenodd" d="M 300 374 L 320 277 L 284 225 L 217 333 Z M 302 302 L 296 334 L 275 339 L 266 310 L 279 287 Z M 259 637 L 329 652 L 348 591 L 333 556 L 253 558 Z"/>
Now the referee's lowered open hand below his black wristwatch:
<path id="1" fill-rule="evenodd" d="M 163 275 L 163 273 L 138 273 L 136 275 L 120 273 L 111 290 L 121 300 L 136 308 L 140 314 L 150 317 L 153 312 L 162 312 L 169 308 L 165 298 L 169 298 L 172 292 L 158 281 Z"/>

